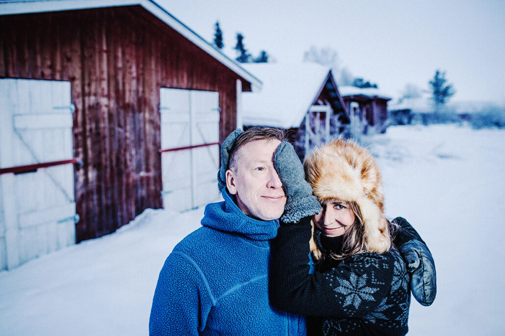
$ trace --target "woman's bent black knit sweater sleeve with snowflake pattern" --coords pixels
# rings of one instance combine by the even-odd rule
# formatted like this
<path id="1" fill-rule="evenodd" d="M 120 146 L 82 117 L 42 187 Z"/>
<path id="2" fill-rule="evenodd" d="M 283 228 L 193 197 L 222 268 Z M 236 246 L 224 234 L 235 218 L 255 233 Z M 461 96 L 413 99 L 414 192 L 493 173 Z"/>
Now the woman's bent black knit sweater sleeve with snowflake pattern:
<path id="1" fill-rule="evenodd" d="M 294 314 L 363 317 L 388 293 L 394 260 L 389 254 L 348 257 L 325 272 L 309 274 L 310 218 L 281 223 L 273 242 L 269 295 L 272 304 Z"/>

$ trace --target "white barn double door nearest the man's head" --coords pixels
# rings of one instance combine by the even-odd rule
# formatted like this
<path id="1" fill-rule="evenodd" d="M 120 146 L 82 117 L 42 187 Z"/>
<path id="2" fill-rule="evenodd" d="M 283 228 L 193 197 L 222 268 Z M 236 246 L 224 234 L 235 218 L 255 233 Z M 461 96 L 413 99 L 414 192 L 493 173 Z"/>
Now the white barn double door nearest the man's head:
<path id="1" fill-rule="evenodd" d="M 219 94 L 160 90 L 163 207 L 184 211 L 219 198 Z"/>

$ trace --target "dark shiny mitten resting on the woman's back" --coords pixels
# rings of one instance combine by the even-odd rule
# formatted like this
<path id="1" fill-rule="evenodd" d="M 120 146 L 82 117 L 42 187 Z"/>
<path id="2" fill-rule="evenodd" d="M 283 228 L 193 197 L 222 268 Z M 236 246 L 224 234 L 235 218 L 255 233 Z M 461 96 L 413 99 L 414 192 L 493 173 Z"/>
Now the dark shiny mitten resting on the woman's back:
<path id="1" fill-rule="evenodd" d="M 401 227 L 394 244 L 407 263 L 412 295 L 423 306 L 429 306 L 437 294 L 435 261 L 426 243 L 405 218 L 396 217 L 394 221 Z"/>

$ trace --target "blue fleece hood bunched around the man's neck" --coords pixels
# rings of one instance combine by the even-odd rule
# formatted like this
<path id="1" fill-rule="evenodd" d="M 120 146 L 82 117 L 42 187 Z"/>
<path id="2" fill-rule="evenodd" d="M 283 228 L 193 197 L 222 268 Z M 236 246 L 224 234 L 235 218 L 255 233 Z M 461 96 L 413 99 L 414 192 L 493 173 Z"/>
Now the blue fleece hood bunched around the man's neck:
<path id="1" fill-rule="evenodd" d="M 211 203 L 205 207 L 201 225 L 213 229 L 239 233 L 254 241 L 268 241 L 275 238 L 279 221 L 263 221 L 246 216 L 233 202 L 226 187 L 221 189 L 224 202 Z"/>

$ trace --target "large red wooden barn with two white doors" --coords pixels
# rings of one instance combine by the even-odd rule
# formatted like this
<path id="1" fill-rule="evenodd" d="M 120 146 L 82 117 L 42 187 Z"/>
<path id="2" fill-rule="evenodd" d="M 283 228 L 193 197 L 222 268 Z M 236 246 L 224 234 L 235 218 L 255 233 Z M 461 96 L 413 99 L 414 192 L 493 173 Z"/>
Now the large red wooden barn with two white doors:
<path id="1" fill-rule="evenodd" d="M 3 1 L 0 49 L 0 269 L 215 200 L 262 85 L 152 0 Z"/>

